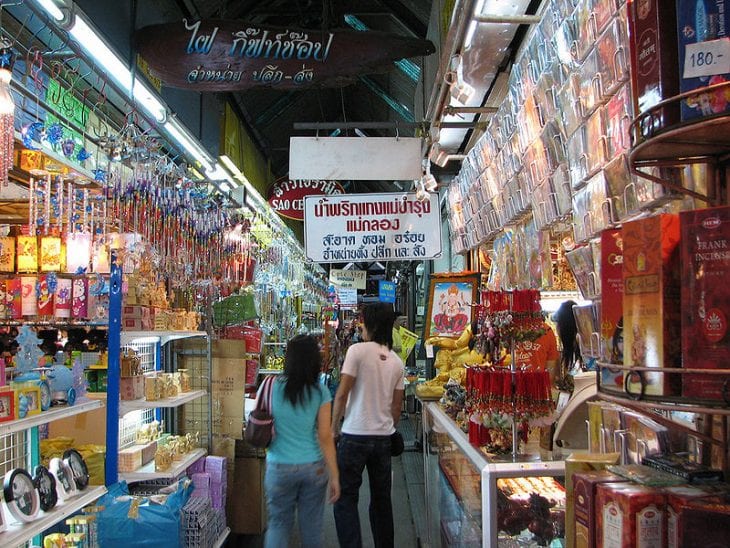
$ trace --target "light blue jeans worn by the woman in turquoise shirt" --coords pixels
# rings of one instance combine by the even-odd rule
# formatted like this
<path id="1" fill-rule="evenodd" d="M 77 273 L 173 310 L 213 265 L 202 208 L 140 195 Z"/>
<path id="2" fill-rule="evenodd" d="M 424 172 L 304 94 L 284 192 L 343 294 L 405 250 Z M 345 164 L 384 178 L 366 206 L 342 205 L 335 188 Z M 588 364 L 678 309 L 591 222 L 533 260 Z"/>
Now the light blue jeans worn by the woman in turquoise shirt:
<path id="1" fill-rule="evenodd" d="M 268 527 L 265 548 L 289 546 L 295 511 L 298 514 L 302 547 L 321 548 L 328 480 L 324 461 L 308 464 L 266 463 L 264 486 Z"/>

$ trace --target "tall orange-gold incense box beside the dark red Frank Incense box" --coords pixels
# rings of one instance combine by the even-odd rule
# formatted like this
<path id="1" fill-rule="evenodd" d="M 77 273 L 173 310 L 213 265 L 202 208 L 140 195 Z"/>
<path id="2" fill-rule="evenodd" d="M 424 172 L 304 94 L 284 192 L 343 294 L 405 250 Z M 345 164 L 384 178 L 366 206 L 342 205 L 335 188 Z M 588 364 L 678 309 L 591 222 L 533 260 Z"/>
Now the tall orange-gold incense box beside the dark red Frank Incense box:
<path id="1" fill-rule="evenodd" d="M 656 215 L 623 225 L 624 364 L 662 369 L 681 360 L 679 217 Z M 677 395 L 679 375 L 643 372 L 632 394 Z M 643 384 L 643 386 L 642 386 Z"/>

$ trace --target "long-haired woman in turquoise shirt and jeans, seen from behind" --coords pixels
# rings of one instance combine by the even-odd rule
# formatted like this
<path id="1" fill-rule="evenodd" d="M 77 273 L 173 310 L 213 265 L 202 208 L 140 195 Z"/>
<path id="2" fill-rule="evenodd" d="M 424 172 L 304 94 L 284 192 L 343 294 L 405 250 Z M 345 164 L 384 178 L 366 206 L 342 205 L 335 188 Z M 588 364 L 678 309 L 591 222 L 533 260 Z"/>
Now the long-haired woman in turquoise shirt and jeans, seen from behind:
<path id="1" fill-rule="evenodd" d="M 272 395 L 275 436 L 266 454 L 265 548 L 289 545 L 295 511 L 302 546 L 321 547 L 325 496 L 330 503 L 340 496 L 332 396 L 319 383 L 321 369 L 314 337 L 297 335 L 289 341 L 284 375 L 274 383 Z"/>

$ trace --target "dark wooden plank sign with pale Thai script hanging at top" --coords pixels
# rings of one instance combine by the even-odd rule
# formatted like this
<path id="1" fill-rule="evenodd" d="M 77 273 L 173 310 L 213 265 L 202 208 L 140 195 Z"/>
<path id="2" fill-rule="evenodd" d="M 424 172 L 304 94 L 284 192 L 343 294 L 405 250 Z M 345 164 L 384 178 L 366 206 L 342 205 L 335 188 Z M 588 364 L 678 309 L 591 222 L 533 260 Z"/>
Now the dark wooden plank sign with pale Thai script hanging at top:
<path id="1" fill-rule="evenodd" d="M 137 31 L 150 72 L 168 86 L 230 91 L 267 86 L 342 86 L 408 57 L 435 51 L 428 40 L 374 31 L 265 27 L 207 19 Z"/>

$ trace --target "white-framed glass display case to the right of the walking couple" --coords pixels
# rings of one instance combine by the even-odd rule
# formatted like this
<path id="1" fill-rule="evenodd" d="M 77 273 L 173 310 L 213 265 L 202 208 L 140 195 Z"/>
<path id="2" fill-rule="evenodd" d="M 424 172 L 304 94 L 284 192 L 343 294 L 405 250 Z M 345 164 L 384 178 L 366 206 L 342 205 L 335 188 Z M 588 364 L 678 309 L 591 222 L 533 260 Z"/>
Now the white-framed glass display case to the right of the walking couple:
<path id="1" fill-rule="evenodd" d="M 428 546 L 563 546 L 563 461 L 496 458 L 437 402 L 423 405 Z"/>

